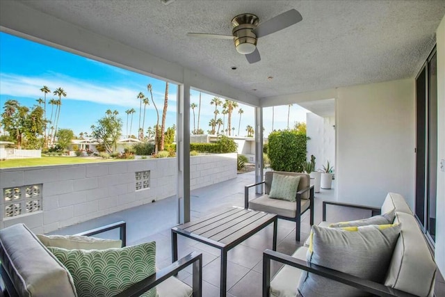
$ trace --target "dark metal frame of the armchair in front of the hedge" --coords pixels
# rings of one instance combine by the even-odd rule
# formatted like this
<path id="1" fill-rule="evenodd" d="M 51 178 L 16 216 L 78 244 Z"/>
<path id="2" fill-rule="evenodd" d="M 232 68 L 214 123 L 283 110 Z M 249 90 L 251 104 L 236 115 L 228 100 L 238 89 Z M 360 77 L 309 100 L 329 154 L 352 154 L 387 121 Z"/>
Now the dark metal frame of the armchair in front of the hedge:
<path id="1" fill-rule="evenodd" d="M 244 187 L 244 208 L 248 209 L 249 208 L 249 188 L 252 188 L 252 186 L 259 186 L 261 184 L 265 184 L 266 181 L 263 182 L 259 182 L 257 184 L 250 184 L 248 186 Z M 301 212 L 301 196 L 303 193 L 306 193 L 307 191 L 309 192 L 309 207 Z M 307 210 L 309 210 L 311 212 L 310 216 L 309 216 L 309 220 L 310 220 L 310 224 L 311 226 L 314 225 L 314 186 L 309 186 L 307 188 L 303 188 L 302 190 L 298 191 L 296 193 L 296 206 L 297 206 L 297 210 L 296 210 L 296 216 L 294 218 L 290 218 L 288 216 L 280 216 L 278 215 L 278 218 L 282 218 L 283 220 L 291 220 L 292 222 L 296 223 L 296 234 L 295 234 L 295 239 L 296 241 L 300 241 L 300 230 L 301 230 L 301 215 L 304 214 Z"/>

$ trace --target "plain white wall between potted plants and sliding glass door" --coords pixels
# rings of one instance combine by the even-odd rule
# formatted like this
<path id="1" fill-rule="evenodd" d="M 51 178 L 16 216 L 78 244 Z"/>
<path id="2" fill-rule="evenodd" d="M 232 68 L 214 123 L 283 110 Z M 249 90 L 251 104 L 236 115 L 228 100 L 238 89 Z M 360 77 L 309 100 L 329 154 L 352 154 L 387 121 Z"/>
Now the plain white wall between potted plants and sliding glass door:
<path id="1" fill-rule="evenodd" d="M 414 209 L 414 80 L 337 91 L 338 200 L 380 206 L 392 191 Z"/>

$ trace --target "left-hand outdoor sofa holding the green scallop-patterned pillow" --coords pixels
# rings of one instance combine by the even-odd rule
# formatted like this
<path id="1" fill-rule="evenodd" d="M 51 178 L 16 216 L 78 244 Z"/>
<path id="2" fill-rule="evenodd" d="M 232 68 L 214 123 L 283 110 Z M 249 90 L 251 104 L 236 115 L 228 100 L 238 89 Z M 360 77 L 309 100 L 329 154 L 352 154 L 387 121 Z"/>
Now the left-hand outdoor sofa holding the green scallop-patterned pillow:
<path id="1" fill-rule="evenodd" d="M 102 232 L 106 232 L 109 230 L 113 230 L 115 228 L 120 229 L 120 241 L 118 241 L 119 246 L 123 246 L 122 248 L 107 248 L 106 250 L 84 250 L 86 245 L 90 244 L 92 241 L 93 244 L 104 244 L 104 245 L 115 245 L 115 241 L 104 240 L 104 239 L 94 239 L 91 237 L 95 234 L 99 234 Z M 45 236 L 38 235 L 36 236 L 26 227 L 24 224 L 16 224 L 10 227 L 6 227 L 3 230 L 0 230 L 0 296 L 19 296 L 19 297 L 76 297 L 76 296 L 104 296 L 102 293 L 95 293 L 96 287 L 92 287 L 90 292 L 81 292 L 79 288 L 74 287 L 75 279 L 74 275 L 71 275 L 70 272 L 65 268 L 66 266 L 72 264 L 69 262 L 65 262 L 62 264 L 58 257 L 55 257 L 53 253 L 49 250 L 56 250 L 58 253 L 71 253 L 68 255 L 79 255 L 91 253 L 90 255 L 105 255 L 103 259 L 104 263 L 99 263 L 99 266 L 102 264 L 106 264 L 108 266 L 109 261 L 114 262 L 114 260 L 120 260 L 120 266 L 128 266 L 134 267 L 136 269 L 140 269 L 143 271 L 146 267 L 141 267 L 145 265 L 144 259 L 148 259 L 149 257 L 151 262 L 155 262 L 155 255 L 146 255 L 140 252 L 140 247 L 145 248 L 151 247 L 155 248 L 155 243 L 143 243 L 138 246 L 127 247 L 126 245 L 126 225 L 124 222 L 118 222 L 111 225 L 106 225 L 104 227 L 99 227 L 95 230 L 90 230 L 87 232 L 83 232 L 81 234 L 77 234 L 80 236 L 76 236 L 76 239 L 70 242 L 70 244 L 81 245 L 81 248 L 77 250 L 67 250 L 64 248 L 53 248 L 47 247 L 43 242 L 45 241 L 63 241 L 63 244 L 66 244 L 65 239 L 47 239 Z M 46 236 L 48 237 L 48 236 Z M 42 239 L 42 241 L 40 239 Z M 79 241 L 81 238 L 81 241 Z M 84 240 L 88 239 L 88 241 Z M 72 238 L 70 237 L 70 240 Z M 47 243 L 47 242 L 45 242 Z M 139 250 L 137 250 L 139 249 Z M 135 252 L 136 250 L 136 252 Z M 134 252 L 131 254 L 131 252 Z M 74 254 L 76 253 L 76 254 Z M 119 258 L 111 259 L 111 256 L 108 255 L 113 253 L 121 253 Z M 139 262 L 135 262 L 135 264 L 131 264 L 127 262 L 127 259 L 123 260 L 126 255 L 133 256 L 133 258 L 140 257 Z M 57 255 L 57 254 L 56 254 Z M 94 258 L 94 257 L 93 257 Z M 74 258 L 78 259 L 78 258 Z M 111 259 L 111 260 L 110 260 Z M 85 262 L 88 259 L 82 258 L 82 261 Z M 99 261 L 99 260 L 97 260 Z M 141 262 L 144 262 L 141 265 Z M 133 265 L 133 266 L 131 266 Z M 175 276 L 177 273 L 187 266 L 193 266 L 193 287 L 189 287 L 184 282 L 181 282 Z M 120 278 L 120 280 L 127 280 L 129 277 L 128 269 L 127 271 L 122 270 L 118 271 L 118 268 L 108 268 L 107 266 L 100 266 L 106 272 L 106 274 L 113 274 Z M 82 268 L 82 267 L 81 267 Z M 90 267 L 88 267 L 90 268 Z M 97 267 L 96 267 L 97 269 Z M 116 269 L 116 270 L 114 270 Z M 151 268 L 150 268 L 151 269 Z M 118 297 L 129 297 L 129 296 L 159 296 L 159 297 L 200 297 L 201 289 L 202 289 L 202 254 L 197 252 L 191 252 L 191 254 L 187 255 L 179 259 L 177 262 L 170 264 L 159 271 L 156 271 L 156 268 L 153 267 L 154 273 L 147 276 L 143 280 L 140 280 L 134 284 L 131 284 L 130 287 L 127 286 L 127 289 L 124 291 L 120 291 L 120 293 L 115 294 L 114 296 Z M 86 268 L 86 271 L 88 269 Z M 131 269 L 130 269 L 131 270 Z M 92 271 L 92 273 L 96 273 L 97 271 Z M 135 273 L 137 274 L 137 273 Z M 93 278 L 93 276 L 92 276 Z M 114 282 L 114 281 L 113 281 Z M 115 286 L 115 283 L 111 282 L 106 289 Z M 99 287 L 99 286 L 97 286 Z M 156 289 L 154 289 L 156 288 Z M 76 291 L 77 289 L 77 291 Z M 150 291 L 149 291 L 150 290 Z M 156 291 L 154 291 L 156 290 Z M 147 292 L 148 291 L 148 292 Z M 157 295 L 156 295 L 157 293 Z M 110 295 L 106 295 L 110 296 Z"/>

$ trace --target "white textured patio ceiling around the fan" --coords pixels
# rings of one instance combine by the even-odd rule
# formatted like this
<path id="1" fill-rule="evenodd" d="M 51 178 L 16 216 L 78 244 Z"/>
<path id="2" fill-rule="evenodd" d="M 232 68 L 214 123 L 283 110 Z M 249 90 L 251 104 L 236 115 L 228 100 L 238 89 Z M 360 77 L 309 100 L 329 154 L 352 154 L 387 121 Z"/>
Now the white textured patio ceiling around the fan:
<path id="1" fill-rule="evenodd" d="M 22 3 L 257 97 L 414 77 L 445 14 L 444 0 Z M 186 36 L 229 35 L 235 15 L 253 13 L 261 22 L 291 8 L 302 22 L 259 38 L 259 63 L 249 64 L 231 40 Z"/>

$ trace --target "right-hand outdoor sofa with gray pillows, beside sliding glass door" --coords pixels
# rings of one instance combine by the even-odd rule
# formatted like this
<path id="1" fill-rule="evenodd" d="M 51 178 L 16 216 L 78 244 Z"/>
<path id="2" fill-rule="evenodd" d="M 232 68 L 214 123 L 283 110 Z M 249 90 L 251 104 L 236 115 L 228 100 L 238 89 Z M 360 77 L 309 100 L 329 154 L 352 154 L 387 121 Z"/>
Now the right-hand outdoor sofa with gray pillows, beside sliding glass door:
<path id="1" fill-rule="evenodd" d="M 373 216 L 368 220 L 343 222 L 343 225 L 340 226 L 330 225 L 325 222 L 327 205 L 368 209 L 372 214 L 381 215 Z M 394 217 L 394 219 L 387 225 L 378 224 L 378 220 L 381 223 L 382 220 L 389 220 L 390 217 Z M 367 223 L 378 225 L 366 225 Z M 392 230 L 397 227 L 399 233 L 394 237 L 394 243 L 389 249 L 378 247 L 378 243 L 376 243 L 378 240 L 374 239 L 364 242 L 364 246 L 357 250 L 355 246 L 362 244 L 361 241 L 346 242 L 345 246 L 341 246 L 346 241 L 345 239 L 336 242 L 337 239 L 332 239 L 332 237 L 323 238 L 323 235 L 329 237 L 333 234 L 350 236 L 351 232 L 348 233 L 347 230 L 338 228 L 345 225 L 363 225 L 363 227 L 346 227 L 348 230 L 355 230 L 355 232 L 359 230 L 358 228 L 383 232 L 382 230 Z M 355 236 L 355 234 L 353 235 Z M 385 241 L 389 241 L 389 239 L 386 237 L 382 239 L 383 243 Z M 330 245 L 323 246 L 323 243 L 327 242 L 330 242 Z M 319 251 L 322 252 L 316 255 Z M 330 255 L 332 251 L 334 254 Z M 380 257 L 385 252 L 388 253 L 386 261 L 377 260 L 376 263 L 373 263 L 376 260 L 375 257 Z M 331 258 L 326 259 L 329 257 Z M 360 257 L 371 258 L 360 263 Z M 270 278 L 271 261 L 285 264 L 272 279 Z M 320 262 L 324 262 L 325 265 L 320 265 Z M 342 267 L 335 266 L 335 262 Z M 357 264 L 359 265 L 357 266 Z M 373 265 L 381 270 L 374 275 L 380 278 L 378 282 L 362 276 L 369 274 Z M 319 226 L 312 227 L 312 233 L 305 246 L 298 248 L 291 256 L 273 250 L 264 251 L 263 296 L 343 297 L 369 296 L 369 294 L 376 296 L 433 296 L 436 271 L 437 266 L 428 243 L 402 195 L 388 193 L 381 208 L 325 201 L 323 202 L 323 222 Z M 342 290 L 344 291 L 342 292 Z"/>

